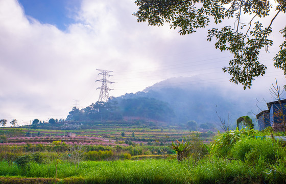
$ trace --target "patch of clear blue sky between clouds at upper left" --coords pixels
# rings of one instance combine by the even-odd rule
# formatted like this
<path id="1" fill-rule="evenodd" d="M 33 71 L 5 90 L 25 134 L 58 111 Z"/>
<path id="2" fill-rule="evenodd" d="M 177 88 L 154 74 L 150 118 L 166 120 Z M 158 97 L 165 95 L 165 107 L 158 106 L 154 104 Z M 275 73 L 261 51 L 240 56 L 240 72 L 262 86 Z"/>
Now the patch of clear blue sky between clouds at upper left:
<path id="1" fill-rule="evenodd" d="M 79 0 L 18 0 L 25 14 L 39 20 L 42 24 L 55 25 L 66 30 L 75 22 L 75 13 L 80 9 Z"/>

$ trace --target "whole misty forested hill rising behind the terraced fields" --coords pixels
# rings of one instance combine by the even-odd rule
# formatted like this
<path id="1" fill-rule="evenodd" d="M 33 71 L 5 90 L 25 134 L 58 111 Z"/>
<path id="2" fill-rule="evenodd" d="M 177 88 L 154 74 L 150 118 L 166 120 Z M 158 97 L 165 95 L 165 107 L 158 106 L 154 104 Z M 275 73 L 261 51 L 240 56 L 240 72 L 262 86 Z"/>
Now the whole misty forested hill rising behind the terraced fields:
<path id="1" fill-rule="evenodd" d="M 220 124 L 218 116 L 228 121 L 229 114 L 230 122 L 234 125 L 237 118 L 246 115 L 255 121 L 255 94 L 239 94 L 216 85 L 173 85 L 183 80 L 186 78 L 168 79 L 135 94 L 111 97 L 106 103 L 96 102 L 83 109 L 74 108 L 67 120 L 122 120 L 123 117 L 137 117 L 177 125 L 196 121 L 198 125 L 217 126 Z"/>

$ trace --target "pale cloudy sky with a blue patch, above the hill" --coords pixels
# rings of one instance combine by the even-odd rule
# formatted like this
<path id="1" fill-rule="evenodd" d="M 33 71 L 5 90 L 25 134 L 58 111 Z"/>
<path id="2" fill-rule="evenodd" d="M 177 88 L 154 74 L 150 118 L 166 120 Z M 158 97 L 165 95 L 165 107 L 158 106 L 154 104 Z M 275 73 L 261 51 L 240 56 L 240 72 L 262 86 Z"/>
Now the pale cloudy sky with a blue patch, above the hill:
<path id="1" fill-rule="evenodd" d="M 132 15 L 136 10 L 130 0 L 0 0 L 0 119 L 19 124 L 65 119 L 75 100 L 80 108 L 98 100 L 101 83 L 96 80 L 102 76 L 97 68 L 113 71 L 108 80 L 115 83 L 108 86 L 115 97 L 172 77 L 199 79 L 178 86 L 216 85 L 259 93 L 258 99 L 270 99 L 275 78 L 285 83 L 272 61 L 284 15 L 274 22 L 270 53 L 260 55 L 267 74 L 244 91 L 222 72 L 231 56 L 206 41 L 207 30 L 180 36 L 168 25 L 138 23 Z"/>

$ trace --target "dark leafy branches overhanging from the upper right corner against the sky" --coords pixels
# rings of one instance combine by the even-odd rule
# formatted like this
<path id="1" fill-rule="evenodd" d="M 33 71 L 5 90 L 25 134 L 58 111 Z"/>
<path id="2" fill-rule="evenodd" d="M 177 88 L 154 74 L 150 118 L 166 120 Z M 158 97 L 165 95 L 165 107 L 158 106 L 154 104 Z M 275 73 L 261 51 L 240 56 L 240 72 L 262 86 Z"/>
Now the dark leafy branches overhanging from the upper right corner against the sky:
<path id="1" fill-rule="evenodd" d="M 272 3 L 274 6 L 270 0 L 137 0 L 135 4 L 139 10 L 134 15 L 138 22 L 148 21 L 150 26 L 168 23 L 171 28 L 179 28 L 181 35 L 206 28 L 212 18 L 214 24 L 233 19 L 234 25 L 208 30 L 207 40 L 216 38 L 215 47 L 233 55 L 223 71 L 232 76 L 231 82 L 241 83 L 246 89 L 251 87 L 255 77 L 265 74 L 267 66 L 259 61 L 260 50 L 265 48 L 268 51 L 273 44 L 268 39 L 273 21 L 278 14 L 286 12 L 285 0 L 273 0 Z M 275 10 L 275 14 L 270 14 L 270 10 Z M 250 21 L 242 22 L 243 16 L 251 17 Z M 271 21 L 261 24 L 259 20 L 266 16 L 272 16 Z M 280 32 L 285 41 L 273 60 L 274 66 L 281 68 L 286 75 L 286 27 Z"/>

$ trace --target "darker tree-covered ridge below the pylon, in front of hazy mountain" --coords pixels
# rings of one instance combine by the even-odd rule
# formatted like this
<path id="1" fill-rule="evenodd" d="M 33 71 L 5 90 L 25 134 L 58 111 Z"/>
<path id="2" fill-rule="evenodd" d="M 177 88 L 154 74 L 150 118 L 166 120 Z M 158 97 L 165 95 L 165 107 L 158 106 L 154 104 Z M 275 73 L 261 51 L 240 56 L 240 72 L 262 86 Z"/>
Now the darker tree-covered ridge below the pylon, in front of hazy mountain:
<path id="1" fill-rule="evenodd" d="M 108 102 L 96 102 L 79 109 L 74 107 L 68 114 L 67 121 L 102 121 L 122 120 L 123 117 L 140 117 L 157 121 L 173 118 L 175 113 L 166 102 L 154 98 L 133 98 Z"/>

